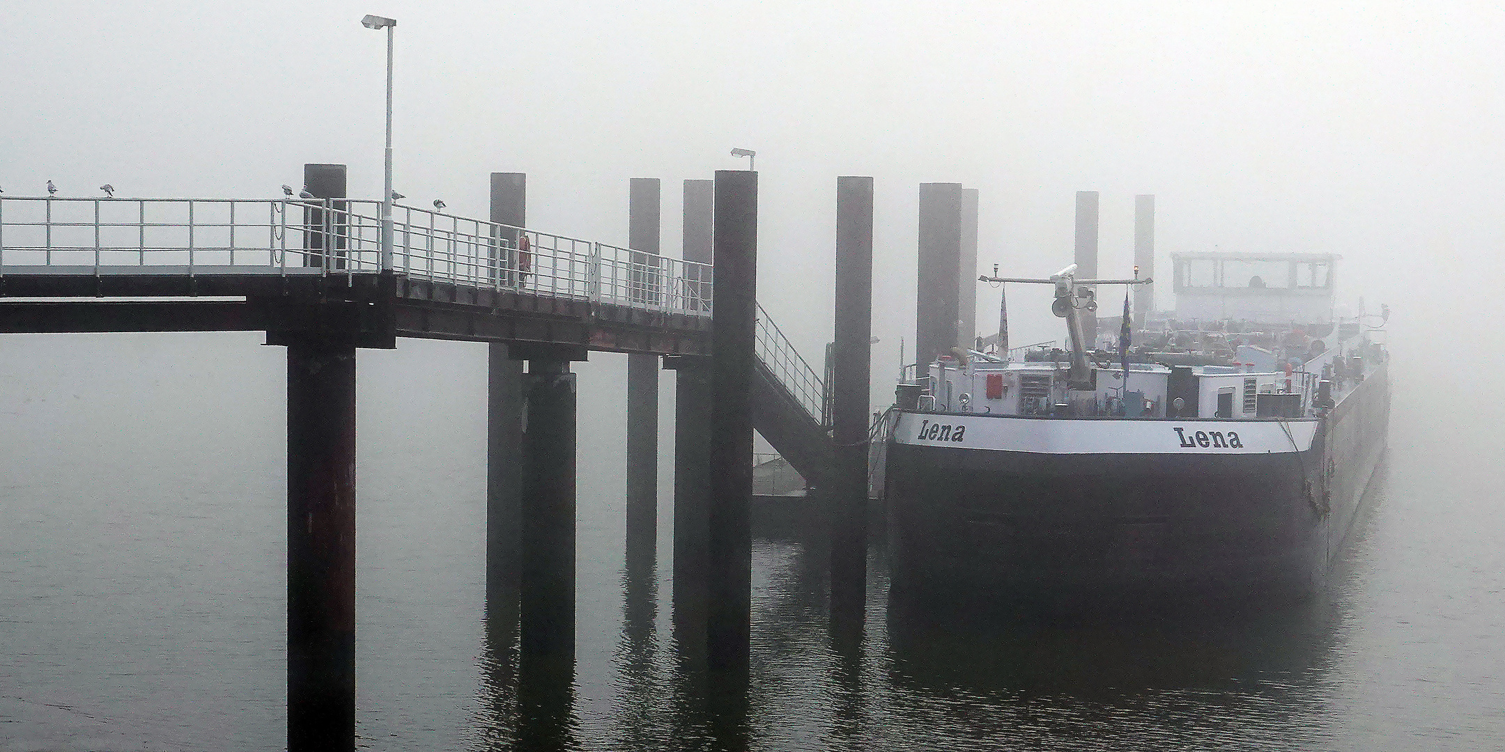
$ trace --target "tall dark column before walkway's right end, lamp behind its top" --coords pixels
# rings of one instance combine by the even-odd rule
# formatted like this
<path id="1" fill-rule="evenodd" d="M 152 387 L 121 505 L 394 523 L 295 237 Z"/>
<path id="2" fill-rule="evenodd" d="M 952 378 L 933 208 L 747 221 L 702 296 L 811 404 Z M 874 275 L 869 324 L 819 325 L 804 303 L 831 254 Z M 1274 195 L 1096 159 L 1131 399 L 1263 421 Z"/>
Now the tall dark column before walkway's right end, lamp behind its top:
<path id="1" fill-rule="evenodd" d="M 757 173 L 718 170 L 710 362 L 712 671 L 745 675 L 752 606 L 752 373 L 757 367 Z M 953 275 L 954 277 L 954 275 Z"/>

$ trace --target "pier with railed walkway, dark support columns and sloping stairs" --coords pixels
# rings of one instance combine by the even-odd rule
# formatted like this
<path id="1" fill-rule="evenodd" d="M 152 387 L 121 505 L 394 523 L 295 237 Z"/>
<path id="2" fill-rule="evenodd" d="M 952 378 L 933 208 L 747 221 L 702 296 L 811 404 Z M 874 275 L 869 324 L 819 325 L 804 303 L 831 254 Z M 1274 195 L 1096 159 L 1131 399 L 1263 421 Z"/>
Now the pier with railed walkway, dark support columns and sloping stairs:
<path id="1" fill-rule="evenodd" d="M 856 287 L 838 346 L 862 340 L 865 364 L 871 179 L 841 180 Z M 244 200 L 0 196 L 0 334 L 263 331 L 286 347 L 289 749 L 355 744 L 355 359 L 402 338 L 488 343 L 488 630 L 516 635 L 533 693 L 569 692 L 573 674 L 570 364 L 629 356 L 629 567 L 652 567 L 658 370 L 677 371 L 676 630 L 745 686 L 754 429 L 808 481 L 850 484 L 844 507 L 867 499 L 867 368 L 838 373 L 838 451 L 828 385 L 757 304 L 757 173 L 685 182 L 682 259 L 661 254 L 656 179 L 631 182 L 626 245 L 528 227 L 527 176 L 492 173 L 486 220 L 399 205 L 387 259 L 381 202 L 348 197 L 345 165 L 307 164 L 304 183 Z M 841 540 L 847 585 L 832 588 L 849 614 L 856 599 L 859 630 L 865 541 Z"/>

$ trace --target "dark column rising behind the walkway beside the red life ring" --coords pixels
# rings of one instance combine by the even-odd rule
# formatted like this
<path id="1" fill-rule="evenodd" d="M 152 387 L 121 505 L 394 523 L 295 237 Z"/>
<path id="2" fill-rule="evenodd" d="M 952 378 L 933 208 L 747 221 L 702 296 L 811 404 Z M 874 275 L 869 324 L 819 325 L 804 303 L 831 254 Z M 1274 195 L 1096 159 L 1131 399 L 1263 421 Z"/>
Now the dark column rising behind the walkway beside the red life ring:
<path id="1" fill-rule="evenodd" d="M 491 221 L 527 223 L 527 174 L 491 173 Z M 506 238 L 515 242 L 515 238 Z M 486 344 L 486 626 L 498 656 L 518 629 L 522 546 L 522 361 Z"/>

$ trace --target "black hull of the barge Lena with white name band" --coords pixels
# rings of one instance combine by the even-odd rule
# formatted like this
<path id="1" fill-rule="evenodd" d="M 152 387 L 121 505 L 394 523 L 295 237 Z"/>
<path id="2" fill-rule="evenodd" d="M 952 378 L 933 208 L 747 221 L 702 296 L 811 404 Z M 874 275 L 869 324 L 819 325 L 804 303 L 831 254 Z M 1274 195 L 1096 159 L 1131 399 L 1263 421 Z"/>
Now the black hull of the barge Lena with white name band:
<path id="1" fill-rule="evenodd" d="M 900 427 L 951 423 L 911 415 L 883 457 L 894 585 L 909 599 L 978 608 L 1311 593 L 1341 550 L 1383 453 L 1386 379 L 1377 368 L 1324 418 L 1196 424 L 1246 436 L 1272 427 L 1290 436 L 1297 427 L 1300 445 L 1293 438 L 1285 451 L 1218 453 L 1221 435 L 1199 451 L 1186 444 L 1196 432 L 1175 421 L 1139 427 L 1180 439 L 1171 451 L 1010 451 L 986 435 L 972 447 L 906 444 Z M 1026 420 L 1017 417 L 965 420 L 969 433 L 1061 430 L 989 424 Z M 1073 430 L 1118 430 L 1066 421 Z M 1190 450 L 1174 451 L 1181 447 Z"/>

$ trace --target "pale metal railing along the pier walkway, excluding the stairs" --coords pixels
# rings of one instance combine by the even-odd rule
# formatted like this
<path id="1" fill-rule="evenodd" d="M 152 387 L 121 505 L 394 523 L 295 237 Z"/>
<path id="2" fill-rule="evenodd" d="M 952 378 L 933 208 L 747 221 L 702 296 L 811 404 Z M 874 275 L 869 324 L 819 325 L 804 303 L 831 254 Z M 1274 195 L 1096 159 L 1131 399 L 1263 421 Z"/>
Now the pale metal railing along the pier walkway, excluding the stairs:
<path id="1" fill-rule="evenodd" d="M 0 197 L 0 275 L 24 266 L 382 271 L 381 202 Z M 712 268 L 414 206 L 393 212 L 393 271 L 473 287 L 710 314 Z M 169 269 L 154 269 L 169 271 Z M 178 269 L 173 269 L 178 271 Z"/>

